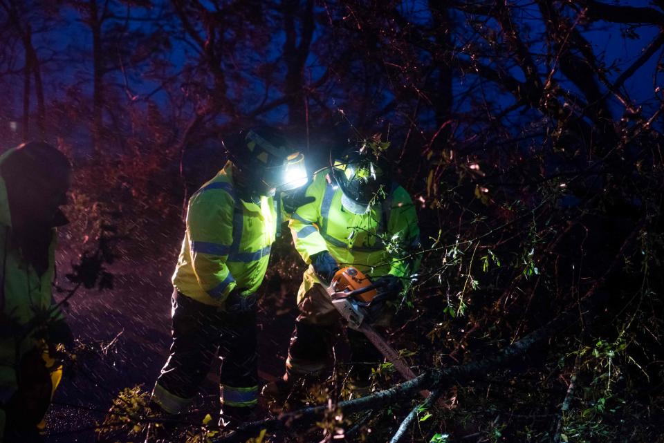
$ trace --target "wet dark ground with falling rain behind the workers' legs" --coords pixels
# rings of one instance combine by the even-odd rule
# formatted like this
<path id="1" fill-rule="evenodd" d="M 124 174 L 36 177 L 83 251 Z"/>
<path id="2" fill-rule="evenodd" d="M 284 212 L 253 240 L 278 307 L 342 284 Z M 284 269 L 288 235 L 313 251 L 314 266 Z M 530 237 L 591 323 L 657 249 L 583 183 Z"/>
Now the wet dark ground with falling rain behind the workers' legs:
<path id="1" fill-rule="evenodd" d="M 68 268 L 66 256 L 59 261 L 60 269 Z M 136 385 L 151 390 L 170 344 L 172 266 L 160 270 L 147 257 L 123 258 L 109 266 L 113 290 L 80 290 L 73 296 L 66 316 L 87 350 L 77 352 L 74 370 L 57 390 L 46 442 L 93 442 L 118 391 Z M 266 278 L 259 305 L 259 373 L 267 381 L 283 373 L 295 318 L 293 285 L 297 290 L 299 282 L 290 281 L 287 289 L 282 280 Z M 196 404 L 218 407 L 217 370 L 218 364 L 210 369 Z"/>

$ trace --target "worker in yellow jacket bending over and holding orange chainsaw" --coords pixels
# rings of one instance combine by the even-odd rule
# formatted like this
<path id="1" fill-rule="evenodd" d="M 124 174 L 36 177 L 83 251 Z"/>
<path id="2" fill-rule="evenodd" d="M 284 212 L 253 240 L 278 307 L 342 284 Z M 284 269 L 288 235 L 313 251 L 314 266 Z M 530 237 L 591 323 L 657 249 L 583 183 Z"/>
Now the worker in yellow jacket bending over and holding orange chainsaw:
<path id="1" fill-rule="evenodd" d="M 352 265 L 382 284 L 379 293 L 385 295 L 368 314 L 374 326 L 389 325 L 418 267 L 420 232 L 409 194 L 387 172 L 385 162 L 373 154 L 349 151 L 316 174 L 306 189 L 313 202 L 291 216 L 295 248 L 309 267 L 297 294 L 299 316 L 286 373 L 266 386 L 266 397 L 283 397 L 297 379 L 326 367 L 340 315 L 323 286 L 340 267 Z M 382 355 L 361 332 L 347 329 L 347 337 L 352 361 L 362 362 L 353 368 L 353 378 L 366 386 L 373 366 L 367 362 L 378 362 Z"/>

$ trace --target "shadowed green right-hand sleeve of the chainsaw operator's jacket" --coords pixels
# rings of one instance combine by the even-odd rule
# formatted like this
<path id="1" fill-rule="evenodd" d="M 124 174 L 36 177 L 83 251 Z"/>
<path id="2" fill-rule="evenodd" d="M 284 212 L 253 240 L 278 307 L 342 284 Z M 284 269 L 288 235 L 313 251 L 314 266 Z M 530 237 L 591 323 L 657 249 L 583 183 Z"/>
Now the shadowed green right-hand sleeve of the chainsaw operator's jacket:
<path id="1" fill-rule="evenodd" d="M 391 257 L 388 274 L 411 276 L 420 267 L 420 227 L 415 205 L 403 187 L 398 187 L 390 202 L 389 235 L 398 243 L 398 253 Z"/>

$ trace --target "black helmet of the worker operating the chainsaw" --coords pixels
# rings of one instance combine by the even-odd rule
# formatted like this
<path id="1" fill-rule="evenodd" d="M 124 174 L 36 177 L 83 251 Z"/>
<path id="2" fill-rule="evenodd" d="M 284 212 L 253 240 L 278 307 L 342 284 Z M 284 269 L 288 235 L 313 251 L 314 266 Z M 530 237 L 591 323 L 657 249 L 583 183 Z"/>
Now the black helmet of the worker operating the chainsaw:
<path id="1" fill-rule="evenodd" d="M 332 168 L 332 178 L 342 191 L 341 204 L 353 214 L 366 214 L 369 206 L 387 197 L 387 165 L 368 153 L 347 151 Z"/>

